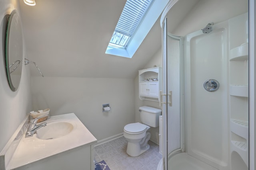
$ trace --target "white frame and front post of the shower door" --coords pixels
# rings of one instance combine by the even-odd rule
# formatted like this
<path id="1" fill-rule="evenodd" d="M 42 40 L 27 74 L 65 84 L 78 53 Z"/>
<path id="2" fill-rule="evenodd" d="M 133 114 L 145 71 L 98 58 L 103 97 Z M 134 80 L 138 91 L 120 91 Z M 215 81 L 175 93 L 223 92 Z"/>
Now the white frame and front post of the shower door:
<path id="1" fill-rule="evenodd" d="M 162 96 L 165 96 L 162 98 L 162 115 L 163 115 L 163 129 L 164 129 L 164 136 L 163 136 L 163 167 L 165 170 L 168 170 L 168 160 L 173 154 L 176 154 L 177 152 L 184 152 L 184 47 L 183 47 L 183 37 L 181 36 L 176 36 L 172 35 L 171 33 L 167 32 L 167 18 L 165 18 L 163 22 L 163 27 L 162 27 L 162 34 L 163 34 L 163 40 L 162 40 L 162 51 L 163 51 L 163 94 Z M 168 92 L 168 86 L 167 86 L 167 80 L 168 80 L 168 75 L 167 75 L 167 58 L 168 58 L 168 52 L 167 52 L 167 45 L 168 45 L 168 37 L 179 41 L 179 72 L 180 72 L 180 86 L 179 86 L 179 94 L 180 94 L 180 108 L 179 108 L 179 113 L 180 113 L 180 146 L 171 152 L 168 152 L 168 142 L 170 143 L 171 141 L 168 141 L 168 105 L 172 103 L 170 101 L 170 94 Z M 172 98 L 172 96 L 171 96 Z M 172 106 L 171 106 L 172 107 Z"/>

